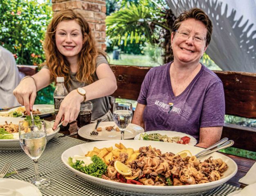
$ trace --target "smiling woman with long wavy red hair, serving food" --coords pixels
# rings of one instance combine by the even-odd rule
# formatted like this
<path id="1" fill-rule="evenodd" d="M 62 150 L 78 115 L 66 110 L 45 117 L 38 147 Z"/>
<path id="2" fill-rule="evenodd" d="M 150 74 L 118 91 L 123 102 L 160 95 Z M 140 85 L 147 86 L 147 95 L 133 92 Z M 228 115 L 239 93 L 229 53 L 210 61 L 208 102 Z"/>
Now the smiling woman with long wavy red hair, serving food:
<path id="1" fill-rule="evenodd" d="M 117 89 L 117 81 L 104 51 L 96 47 L 83 16 L 71 9 L 56 13 L 47 27 L 44 50 L 43 68 L 34 76 L 23 79 L 13 91 L 26 111 L 32 110 L 36 91 L 56 81 L 57 77 L 64 77 L 69 94 L 61 102 L 53 129 L 62 118 L 63 126 L 76 120 L 80 103 L 85 100 L 93 104 L 92 120 L 112 120 L 108 95 Z M 79 87 L 84 89 L 84 96 Z"/>

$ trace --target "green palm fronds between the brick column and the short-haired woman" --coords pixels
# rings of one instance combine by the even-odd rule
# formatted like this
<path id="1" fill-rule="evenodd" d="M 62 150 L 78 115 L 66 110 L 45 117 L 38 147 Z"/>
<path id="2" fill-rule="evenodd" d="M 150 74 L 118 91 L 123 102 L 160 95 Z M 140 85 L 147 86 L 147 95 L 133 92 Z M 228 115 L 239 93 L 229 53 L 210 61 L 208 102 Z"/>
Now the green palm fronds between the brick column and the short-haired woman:
<path id="1" fill-rule="evenodd" d="M 157 42 L 159 31 L 165 27 L 162 25 L 165 21 L 164 14 L 161 9 L 148 6 L 149 2 L 151 1 L 140 0 L 139 4 L 130 2 L 126 7 L 107 16 L 106 34 L 110 39 L 118 40 L 118 45 L 121 44 L 121 40 L 124 40 L 125 46 L 128 39 L 130 43 L 133 40 L 139 43 L 139 40 L 144 38 L 151 44 Z"/>

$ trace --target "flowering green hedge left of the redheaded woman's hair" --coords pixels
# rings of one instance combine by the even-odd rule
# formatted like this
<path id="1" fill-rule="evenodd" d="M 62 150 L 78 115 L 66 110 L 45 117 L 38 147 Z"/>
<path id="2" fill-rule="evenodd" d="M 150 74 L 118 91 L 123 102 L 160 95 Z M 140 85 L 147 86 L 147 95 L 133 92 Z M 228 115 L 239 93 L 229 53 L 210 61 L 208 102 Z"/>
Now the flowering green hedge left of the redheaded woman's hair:
<path id="1" fill-rule="evenodd" d="M 49 2 L 1 0 L 0 44 L 14 54 L 17 64 L 42 63 L 45 59 L 42 40 L 51 18 Z"/>

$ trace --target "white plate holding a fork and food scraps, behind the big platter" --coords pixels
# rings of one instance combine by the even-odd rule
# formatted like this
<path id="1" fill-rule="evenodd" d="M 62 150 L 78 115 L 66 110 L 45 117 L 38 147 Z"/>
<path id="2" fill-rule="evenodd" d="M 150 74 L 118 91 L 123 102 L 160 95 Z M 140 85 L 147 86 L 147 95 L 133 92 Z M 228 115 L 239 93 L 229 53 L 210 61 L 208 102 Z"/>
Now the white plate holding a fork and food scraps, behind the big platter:
<path id="1" fill-rule="evenodd" d="M 95 129 L 96 123 L 91 123 L 89 125 L 85 125 L 78 130 L 79 136 L 89 140 L 119 140 L 121 139 L 120 131 L 107 131 L 105 127 L 114 126 L 117 127 L 114 121 L 111 122 L 100 122 L 98 127 L 102 128 L 102 131 L 99 132 L 97 136 L 90 135 Z M 141 134 L 144 132 L 144 129 L 138 125 L 130 124 L 124 131 L 124 139 L 134 138 L 137 134 Z"/>

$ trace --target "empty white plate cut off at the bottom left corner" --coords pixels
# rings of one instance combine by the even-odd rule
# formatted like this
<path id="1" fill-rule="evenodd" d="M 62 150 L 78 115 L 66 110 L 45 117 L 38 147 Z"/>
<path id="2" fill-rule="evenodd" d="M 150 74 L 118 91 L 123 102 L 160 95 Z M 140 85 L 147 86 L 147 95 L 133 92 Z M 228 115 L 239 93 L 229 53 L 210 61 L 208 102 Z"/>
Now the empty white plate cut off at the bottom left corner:
<path id="1" fill-rule="evenodd" d="M 16 179 L 0 179 L 0 196 L 42 196 L 31 183 Z"/>

